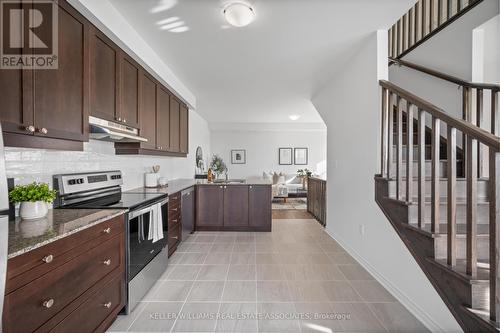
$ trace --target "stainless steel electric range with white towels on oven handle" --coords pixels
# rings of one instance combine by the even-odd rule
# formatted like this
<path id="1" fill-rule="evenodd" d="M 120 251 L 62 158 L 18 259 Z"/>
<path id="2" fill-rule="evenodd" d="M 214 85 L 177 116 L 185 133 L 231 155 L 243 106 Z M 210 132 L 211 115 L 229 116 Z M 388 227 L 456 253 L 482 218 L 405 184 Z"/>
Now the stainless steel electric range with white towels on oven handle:
<path id="1" fill-rule="evenodd" d="M 57 190 L 54 208 L 128 209 L 125 219 L 128 288 L 127 305 L 122 312 L 130 313 L 167 268 L 168 197 L 159 193 L 122 192 L 120 171 L 60 174 L 53 180 Z M 152 214 L 161 219 L 161 239 L 148 237 Z"/>

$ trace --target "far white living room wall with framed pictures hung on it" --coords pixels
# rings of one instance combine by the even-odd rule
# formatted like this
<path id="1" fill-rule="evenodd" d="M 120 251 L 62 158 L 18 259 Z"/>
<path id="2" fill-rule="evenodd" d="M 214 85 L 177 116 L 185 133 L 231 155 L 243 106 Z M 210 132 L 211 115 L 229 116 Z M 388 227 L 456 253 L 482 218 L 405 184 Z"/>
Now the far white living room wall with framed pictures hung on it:
<path id="1" fill-rule="evenodd" d="M 290 125 L 289 125 L 290 126 Z M 262 176 L 264 171 L 295 174 L 298 169 L 326 171 L 326 130 L 212 130 L 212 153 L 219 154 L 231 178 Z M 308 165 L 279 165 L 278 148 L 308 148 Z M 246 164 L 231 164 L 231 150 L 245 149 Z"/>

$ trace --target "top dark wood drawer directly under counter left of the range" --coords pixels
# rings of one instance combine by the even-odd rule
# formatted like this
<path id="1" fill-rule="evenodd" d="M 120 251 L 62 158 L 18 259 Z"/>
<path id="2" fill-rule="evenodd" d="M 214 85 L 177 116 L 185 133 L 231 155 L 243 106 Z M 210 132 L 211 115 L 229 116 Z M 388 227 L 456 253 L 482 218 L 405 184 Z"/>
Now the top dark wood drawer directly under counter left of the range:
<path id="1" fill-rule="evenodd" d="M 74 235 L 62 238 L 7 262 L 6 293 L 10 293 L 71 259 L 125 231 L 120 215 Z"/>

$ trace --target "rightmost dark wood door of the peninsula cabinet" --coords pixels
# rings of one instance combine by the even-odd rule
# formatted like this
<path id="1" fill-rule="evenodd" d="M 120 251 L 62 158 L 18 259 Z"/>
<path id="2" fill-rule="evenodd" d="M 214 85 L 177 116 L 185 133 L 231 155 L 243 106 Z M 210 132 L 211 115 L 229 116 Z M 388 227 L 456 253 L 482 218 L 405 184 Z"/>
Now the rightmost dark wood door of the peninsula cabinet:
<path id="1" fill-rule="evenodd" d="M 252 228 L 271 230 L 271 186 L 248 187 L 248 224 Z"/>

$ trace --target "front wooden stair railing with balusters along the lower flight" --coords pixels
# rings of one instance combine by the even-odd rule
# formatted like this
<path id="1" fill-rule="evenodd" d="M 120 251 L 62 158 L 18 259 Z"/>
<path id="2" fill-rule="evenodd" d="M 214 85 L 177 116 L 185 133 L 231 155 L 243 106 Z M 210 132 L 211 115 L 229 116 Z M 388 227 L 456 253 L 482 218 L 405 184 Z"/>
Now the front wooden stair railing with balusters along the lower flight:
<path id="1" fill-rule="evenodd" d="M 437 106 L 413 95 L 412 93 L 388 82 L 380 81 L 382 87 L 382 114 L 381 114 L 381 178 L 390 181 L 395 178 L 395 200 L 404 201 L 406 205 L 415 205 L 418 212 L 416 228 L 422 234 L 425 229 L 426 214 L 425 198 L 426 184 L 430 182 L 430 232 L 432 235 L 446 234 L 445 266 L 450 271 L 457 271 L 457 133 L 465 136 L 467 149 L 465 161 L 466 210 L 465 217 L 465 272 L 464 276 L 470 281 L 478 278 L 478 143 L 488 147 L 489 154 L 489 318 L 494 323 L 500 322 L 500 138 L 498 132 L 498 103 L 492 103 L 491 116 L 494 119 L 491 132 L 485 131 L 474 124 L 458 119 L 446 113 Z M 498 91 L 493 94 L 498 98 Z M 403 133 L 403 119 L 406 119 L 406 133 Z M 414 143 L 414 126 L 417 122 L 416 144 Z M 425 161 L 426 142 L 425 130 L 427 125 L 432 127 L 430 178 L 426 171 Z M 447 132 L 446 154 L 446 194 L 440 191 L 440 182 L 443 181 L 440 172 L 440 140 L 441 129 Z M 393 133 L 395 133 L 393 137 Z M 405 135 L 405 138 L 403 137 Z M 405 161 L 403 159 L 403 139 L 406 139 Z M 395 142 L 394 142 L 395 141 Z M 393 147 L 395 146 L 395 150 Z M 417 149 L 417 172 L 414 173 L 414 151 Z M 394 154 L 396 156 L 394 156 Z M 396 161 L 395 165 L 393 161 Z M 417 196 L 414 197 L 414 175 L 416 174 Z M 404 188 L 404 191 L 403 191 Z M 441 200 L 446 200 L 446 231 L 440 228 Z M 459 202 L 460 205 L 463 205 Z M 387 213 L 386 213 L 387 215 Z M 463 222 L 463 221 L 461 221 Z M 406 224 L 409 218 L 406 217 Z M 444 224 L 444 223 L 443 223 Z M 483 225 L 484 226 L 484 225 Z M 413 227 L 412 227 L 413 228 Z M 463 232 L 463 231 L 461 231 Z M 442 235 L 444 236 L 444 235 Z M 435 236 L 432 236 L 434 239 Z M 434 249 L 430 251 L 434 253 Z M 429 252 L 427 252 L 429 253 Z M 437 258 L 432 258 L 436 259 Z M 484 266 L 484 263 L 481 263 Z M 441 294 L 441 293 L 440 293 Z M 473 303 L 473 301 L 470 301 Z M 460 306 L 467 305 L 465 300 Z M 448 304 L 448 302 L 447 302 Z M 459 311 L 452 311 L 459 320 L 462 316 Z M 459 322 L 462 322 L 460 318 Z M 493 327 L 493 326 L 492 326 Z M 470 329 L 469 329 L 470 330 Z"/>

